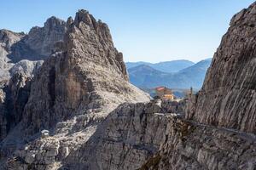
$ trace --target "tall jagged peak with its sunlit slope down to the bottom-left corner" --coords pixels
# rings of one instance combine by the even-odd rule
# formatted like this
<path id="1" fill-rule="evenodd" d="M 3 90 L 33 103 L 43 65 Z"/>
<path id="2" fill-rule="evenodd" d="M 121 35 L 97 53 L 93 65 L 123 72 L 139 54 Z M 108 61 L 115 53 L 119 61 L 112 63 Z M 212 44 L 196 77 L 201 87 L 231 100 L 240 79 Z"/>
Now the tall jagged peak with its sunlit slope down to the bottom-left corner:
<path id="1" fill-rule="evenodd" d="M 55 44 L 55 54 L 33 77 L 20 124 L 3 139 L 5 168 L 59 168 L 70 153 L 96 138 L 98 124 L 119 104 L 148 100 L 128 82 L 108 26 L 79 10 L 75 20 L 67 20 L 64 41 Z M 49 138 L 38 138 L 43 129 Z M 15 149 L 15 156 L 9 155 Z"/>

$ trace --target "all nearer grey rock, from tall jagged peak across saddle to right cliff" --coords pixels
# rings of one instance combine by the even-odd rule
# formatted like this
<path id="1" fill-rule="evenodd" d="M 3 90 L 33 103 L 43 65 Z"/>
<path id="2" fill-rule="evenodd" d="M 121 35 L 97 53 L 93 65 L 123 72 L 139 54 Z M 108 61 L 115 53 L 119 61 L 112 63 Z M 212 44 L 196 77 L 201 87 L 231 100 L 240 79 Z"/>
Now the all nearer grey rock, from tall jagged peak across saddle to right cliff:
<path id="1" fill-rule="evenodd" d="M 144 103 L 108 26 L 80 10 L 25 83 L 30 93 L 0 145 L 0 168 L 255 169 L 255 11 L 253 3 L 232 19 L 203 88 L 184 107 L 186 100 Z M 9 87 L 26 94 L 15 80 Z"/>

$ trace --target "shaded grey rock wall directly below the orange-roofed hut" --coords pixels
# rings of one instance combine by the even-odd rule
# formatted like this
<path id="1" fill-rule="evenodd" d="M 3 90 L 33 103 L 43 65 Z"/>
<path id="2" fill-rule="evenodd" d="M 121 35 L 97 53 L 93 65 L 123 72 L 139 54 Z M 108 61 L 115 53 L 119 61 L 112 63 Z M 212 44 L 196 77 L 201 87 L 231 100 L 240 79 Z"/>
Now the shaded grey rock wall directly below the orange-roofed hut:
<path id="1" fill-rule="evenodd" d="M 137 169 L 159 150 L 170 112 L 179 113 L 183 103 L 153 101 L 123 104 L 98 126 L 79 150 L 71 152 L 62 166 L 67 169 Z M 173 106 L 177 106 L 173 109 Z"/>

